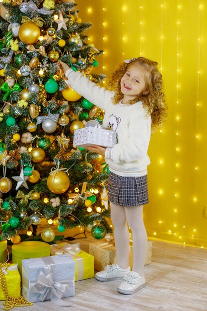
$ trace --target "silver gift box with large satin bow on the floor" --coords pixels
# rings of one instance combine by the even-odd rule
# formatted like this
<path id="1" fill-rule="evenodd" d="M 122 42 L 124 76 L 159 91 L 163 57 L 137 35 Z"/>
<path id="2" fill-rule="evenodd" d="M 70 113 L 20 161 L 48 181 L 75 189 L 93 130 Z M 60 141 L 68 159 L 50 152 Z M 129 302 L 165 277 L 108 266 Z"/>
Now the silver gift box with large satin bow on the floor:
<path id="1" fill-rule="evenodd" d="M 69 255 L 22 260 L 22 295 L 35 303 L 74 296 L 75 261 Z M 52 299 L 51 299 L 52 298 Z"/>

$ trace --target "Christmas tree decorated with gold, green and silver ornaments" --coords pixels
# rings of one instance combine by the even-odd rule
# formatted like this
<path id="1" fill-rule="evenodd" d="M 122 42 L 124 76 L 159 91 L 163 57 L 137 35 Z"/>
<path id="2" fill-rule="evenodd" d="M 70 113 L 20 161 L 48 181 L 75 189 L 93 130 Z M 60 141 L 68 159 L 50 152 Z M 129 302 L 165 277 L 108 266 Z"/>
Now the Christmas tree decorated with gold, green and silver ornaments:
<path id="1" fill-rule="evenodd" d="M 77 226 L 102 238 L 111 228 L 104 157 L 72 145 L 75 129 L 103 111 L 70 88 L 57 65 L 99 83 L 92 73 L 102 51 L 87 45 L 91 26 L 69 0 L 0 2 L 0 238 L 44 241 Z"/>

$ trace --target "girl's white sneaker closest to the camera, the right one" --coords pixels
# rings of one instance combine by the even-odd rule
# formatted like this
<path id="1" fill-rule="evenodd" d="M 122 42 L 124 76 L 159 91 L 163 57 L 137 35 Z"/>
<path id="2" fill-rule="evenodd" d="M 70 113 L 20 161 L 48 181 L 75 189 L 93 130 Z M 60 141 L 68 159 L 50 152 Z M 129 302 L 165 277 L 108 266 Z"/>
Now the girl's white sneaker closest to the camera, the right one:
<path id="1" fill-rule="evenodd" d="M 137 272 L 131 271 L 118 286 L 117 291 L 121 294 L 130 295 L 136 293 L 145 285 L 144 276 L 140 276 Z"/>

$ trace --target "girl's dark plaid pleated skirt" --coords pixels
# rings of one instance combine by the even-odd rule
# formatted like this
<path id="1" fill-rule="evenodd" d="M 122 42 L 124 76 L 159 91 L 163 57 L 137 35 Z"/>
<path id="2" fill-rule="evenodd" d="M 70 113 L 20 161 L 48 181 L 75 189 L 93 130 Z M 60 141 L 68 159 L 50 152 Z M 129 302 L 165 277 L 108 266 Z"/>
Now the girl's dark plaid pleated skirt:
<path id="1" fill-rule="evenodd" d="M 125 177 L 111 172 L 108 184 L 108 197 L 110 202 L 122 206 L 149 203 L 147 175 Z"/>

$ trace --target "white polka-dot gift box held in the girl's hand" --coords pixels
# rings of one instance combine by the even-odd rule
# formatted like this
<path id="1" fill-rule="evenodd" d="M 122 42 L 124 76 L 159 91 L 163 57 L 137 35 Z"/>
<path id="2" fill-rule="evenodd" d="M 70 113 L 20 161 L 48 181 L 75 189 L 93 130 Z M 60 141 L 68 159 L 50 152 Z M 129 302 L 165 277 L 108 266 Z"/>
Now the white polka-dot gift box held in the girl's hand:
<path id="1" fill-rule="evenodd" d="M 74 131 L 73 146 L 90 147 L 98 145 L 114 148 L 116 144 L 116 132 L 95 127 L 84 127 Z"/>

